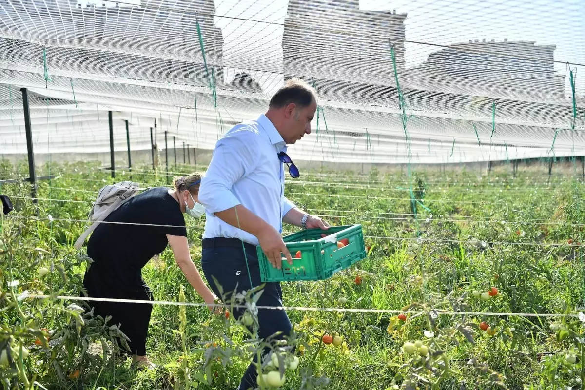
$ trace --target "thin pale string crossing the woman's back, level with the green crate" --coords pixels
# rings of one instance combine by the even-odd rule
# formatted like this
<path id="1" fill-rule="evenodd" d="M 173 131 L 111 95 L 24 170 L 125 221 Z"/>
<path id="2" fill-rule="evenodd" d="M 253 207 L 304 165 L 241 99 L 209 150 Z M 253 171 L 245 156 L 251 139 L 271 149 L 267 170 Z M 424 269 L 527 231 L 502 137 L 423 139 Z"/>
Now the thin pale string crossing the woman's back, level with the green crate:
<path id="1" fill-rule="evenodd" d="M 6 218 L 16 218 L 16 219 L 31 219 L 31 220 L 50 220 L 52 221 L 62 221 L 62 222 L 89 222 L 85 219 L 70 219 L 70 218 L 44 218 L 44 217 L 30 217 L 30 216 L 20 216 L 20 215 L 7 215 Z M 174 225 L 157 225 L 154 223 L 133 223 L 133 222 L 112 222 L 112 221 L 101 221 L 99 223 L 112 223 L 118 225 L 139 225 L 139 226 L 160 226 L 160 227 L 185 227 L 187 229 L 204 229 L 201 226 L 174 226 Z M 283 232 L 285 234 L 290 234 L 292 232 Z M 421 237 L 390 237 L 390 236 L 364 236 L 365 239 L 380 239 L 380 240 L 415 240 L 421 242 L 448 242 L 448 243 L 468 243 L 468 244 L 479 244 L 479 243 L 486 243 L 490 245 L 526 245 L 526 246 L 544 246 L 544 247 L 561 247 L 561 246 L 571 246 L 571 247 L 579 247 L 576 244 L 558 244 L 558 243 L 521 243 L 517 241 L 485 241 L 485 240 L 449 240 L 449 239 L 421 239 Z"/>

